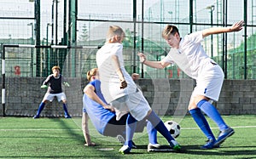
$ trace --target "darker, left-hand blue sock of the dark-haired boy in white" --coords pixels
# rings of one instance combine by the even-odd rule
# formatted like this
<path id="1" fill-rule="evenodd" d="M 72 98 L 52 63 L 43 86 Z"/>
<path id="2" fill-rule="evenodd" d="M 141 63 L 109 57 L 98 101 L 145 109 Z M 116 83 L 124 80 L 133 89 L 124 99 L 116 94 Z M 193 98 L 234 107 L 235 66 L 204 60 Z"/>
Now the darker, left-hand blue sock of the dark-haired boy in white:
<path id="1" fill-rule="evenodd" d="M 198 127 L 201 128 L 201 131 L 205 133 L 207 139 L 215 139 L 212 130 L 207 122 L 206 117 L 201 113 L 199 108 L 195 108 L 190 110 L 189 113 L 194 118 L 195 122 L 197 123 Z"/>

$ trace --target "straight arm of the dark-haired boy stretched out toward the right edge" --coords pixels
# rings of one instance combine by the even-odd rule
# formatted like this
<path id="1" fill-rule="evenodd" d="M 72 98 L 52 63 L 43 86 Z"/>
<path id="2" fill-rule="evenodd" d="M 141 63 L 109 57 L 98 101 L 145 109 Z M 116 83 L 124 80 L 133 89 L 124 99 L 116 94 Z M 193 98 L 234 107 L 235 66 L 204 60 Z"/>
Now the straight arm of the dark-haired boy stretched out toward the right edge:
<path id="1" fill-rule="evenodd" d="M 229 27 L 212 27 L 209 29 L 205 29 L 202 31 L 202 36 L 207 37 L 212 34 L 219 34 L 224 32 L 232 32 L 232 31 L 241 31 L 242 26 L 244 25 L 244 21 L 238 21 L 233 26 Z"/>

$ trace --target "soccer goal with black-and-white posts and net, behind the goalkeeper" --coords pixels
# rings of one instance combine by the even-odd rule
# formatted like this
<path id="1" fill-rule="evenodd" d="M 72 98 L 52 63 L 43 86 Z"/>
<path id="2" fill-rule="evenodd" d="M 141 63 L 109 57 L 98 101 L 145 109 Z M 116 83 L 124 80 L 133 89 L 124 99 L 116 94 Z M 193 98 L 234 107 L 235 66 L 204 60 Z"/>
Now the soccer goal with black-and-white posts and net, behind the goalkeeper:
<path id="1" fill-rule="evenodd" d="M 33 116 L 44 98 L 42 82 L 54 65 L 70 84 L 63 87 L 68 110 L 73 116 L 82 113 L 82 89 L 86 72 L 96 67 L 98 46 L 2 46 L 2 108 L 3 116 Z M 53 106 L 54 105 L 54 106 Z M 55 99 L 45 106 L 42 116 L 64 116 L 61 103 Z"/>

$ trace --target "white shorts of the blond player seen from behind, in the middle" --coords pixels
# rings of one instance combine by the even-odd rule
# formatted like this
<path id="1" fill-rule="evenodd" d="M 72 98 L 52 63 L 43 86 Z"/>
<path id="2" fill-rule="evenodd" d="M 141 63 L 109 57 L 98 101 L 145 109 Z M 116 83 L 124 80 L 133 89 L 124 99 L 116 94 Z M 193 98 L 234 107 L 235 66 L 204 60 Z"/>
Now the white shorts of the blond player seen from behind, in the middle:
<path id="1" fill-rule="evenodd" d="M 128 94 L 113 100 L 110 105 L 115 108 L 117 121 L 127 112 L 130 112 L 131 116 L 137 121 L 141 121 L 151 110 L 147 99 L 144 98 L 143 93 L 139 90 L 134 94 Z"/>

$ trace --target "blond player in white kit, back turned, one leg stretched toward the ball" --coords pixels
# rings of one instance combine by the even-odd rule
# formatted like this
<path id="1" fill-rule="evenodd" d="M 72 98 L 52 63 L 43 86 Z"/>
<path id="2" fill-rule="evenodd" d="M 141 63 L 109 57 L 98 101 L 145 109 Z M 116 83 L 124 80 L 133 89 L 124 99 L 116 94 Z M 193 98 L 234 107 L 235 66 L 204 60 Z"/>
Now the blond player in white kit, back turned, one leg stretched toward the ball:
<path id="1" fill-rule="evenodd" d="M 131 151 L 131 140 L 137 121 L 144 118 L 152 123 L 169 142 L 173 150 L 180 150 L 180 145 L 172 138 L 164 123 L 148 105 L 143 93 L 137 88 L 131 76 L 125 71 L 122 41 L 125 32 L 119 26 L 110 26 L 107 41 L 96 53 L 96 64 L 102 82 L 102 94 L 106 101 L 115 108 L 117 120 L 130 112 L 126 121 L 125 145 L 119 152 L 125 154 Z"/>

